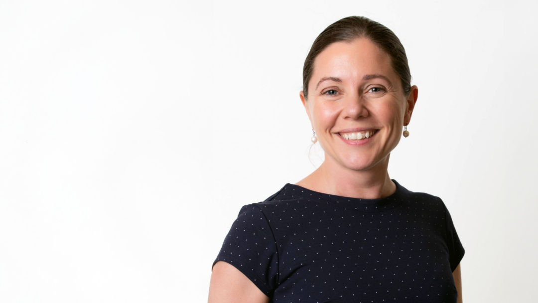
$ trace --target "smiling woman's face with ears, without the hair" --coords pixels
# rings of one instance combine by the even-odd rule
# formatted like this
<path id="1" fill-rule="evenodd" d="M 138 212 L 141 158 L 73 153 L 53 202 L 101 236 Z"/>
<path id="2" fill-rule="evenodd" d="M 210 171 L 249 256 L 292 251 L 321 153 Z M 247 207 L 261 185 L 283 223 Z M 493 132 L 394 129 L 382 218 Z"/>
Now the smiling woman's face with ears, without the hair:
<path id="1" fill-rule="evenodd" d="M 303 91 L 300 96 L 325 156 L 352 170 L 367 170 L 388 160 L 400 142 L 417 93 L 413 86 L 404 95 L 391 58 L 359 38 L 333 43 L 318 54 L 308 99 Z"/>

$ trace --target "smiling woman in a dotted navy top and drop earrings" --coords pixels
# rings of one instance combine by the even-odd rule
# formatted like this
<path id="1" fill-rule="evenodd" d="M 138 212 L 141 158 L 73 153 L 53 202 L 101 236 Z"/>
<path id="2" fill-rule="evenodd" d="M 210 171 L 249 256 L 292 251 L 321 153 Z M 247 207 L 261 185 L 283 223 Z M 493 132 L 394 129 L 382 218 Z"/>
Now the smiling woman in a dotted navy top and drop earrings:
<path id="1" fill-rule="evenodd" d="M 323 164 L 241 208 L 213 263 L 209 302 L 462 302 L 464 249 L 437 196 L 388 176 L 418 90 L 404 47 L 364 17 L 316 38 L 305 106 Z"/>

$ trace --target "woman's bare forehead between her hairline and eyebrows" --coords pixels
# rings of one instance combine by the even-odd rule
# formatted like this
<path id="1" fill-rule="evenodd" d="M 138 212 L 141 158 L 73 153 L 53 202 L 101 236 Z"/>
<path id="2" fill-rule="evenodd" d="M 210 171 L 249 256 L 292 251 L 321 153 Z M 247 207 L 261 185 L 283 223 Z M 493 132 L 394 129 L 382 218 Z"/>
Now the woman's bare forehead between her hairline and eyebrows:
<path id="1" fill-rule="evenodd" d="M 397 77 L 390 56 L 369 39 L 358 38 L 332 43 L 318 54 L 310 80 L 317 83 L 322 77 L 334 76 L 353 81 L 366 74 L 383 74 L 391 81 Z"/>

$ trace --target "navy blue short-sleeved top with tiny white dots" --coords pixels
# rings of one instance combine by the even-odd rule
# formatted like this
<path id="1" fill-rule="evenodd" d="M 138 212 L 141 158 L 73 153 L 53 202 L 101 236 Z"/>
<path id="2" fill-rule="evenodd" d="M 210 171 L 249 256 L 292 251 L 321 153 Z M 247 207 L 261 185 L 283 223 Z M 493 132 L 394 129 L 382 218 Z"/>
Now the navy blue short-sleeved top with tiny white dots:
<path id="1" fill-rule="evenodd" d="M 456 302 L 465 250 L 447 207 L 392 181 L 380 199 L 288 183 L 241 208 L 213 265 L 232 264 L 271 302 Z"/>

